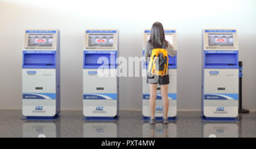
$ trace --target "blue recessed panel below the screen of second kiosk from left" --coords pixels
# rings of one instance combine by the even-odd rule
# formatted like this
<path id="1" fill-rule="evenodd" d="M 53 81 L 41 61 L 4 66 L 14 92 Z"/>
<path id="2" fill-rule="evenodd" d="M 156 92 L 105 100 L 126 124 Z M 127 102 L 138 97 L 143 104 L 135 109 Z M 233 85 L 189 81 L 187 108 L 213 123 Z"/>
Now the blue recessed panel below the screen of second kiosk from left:
<path id="1" fill-rule="evenodd" d="M 102 63 L 98 59 L 102 58 Z M 117 68 L 117 51 L 84 51 L 84 69 Z"/>

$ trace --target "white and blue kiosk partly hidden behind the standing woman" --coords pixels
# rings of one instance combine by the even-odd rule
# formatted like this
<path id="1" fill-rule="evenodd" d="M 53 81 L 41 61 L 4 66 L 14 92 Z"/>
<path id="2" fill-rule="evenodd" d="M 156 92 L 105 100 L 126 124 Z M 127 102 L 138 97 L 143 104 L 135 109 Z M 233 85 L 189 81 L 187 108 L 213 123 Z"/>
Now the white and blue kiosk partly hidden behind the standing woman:
<path id="1" fill-rule="evenodd" d="M 150 30 L 144 30 L 143 34 L 143 55 L 144 49 L 146 47 L 146 42 L 150 38 Z M 166 40 L 177 50 L 177 38 L 176 38 L 176 30 L 164 30 Z M 168 110 L 168 117 L 173 119 L 177 115 L 177 56 L 169 57 L 168 61 L 168 68 L 169 68 L 169 75 L 170 75 L 170 84 L 168 85 L 168 99 L 169 99 L 169 110 Z M 150 117 L 150 106 L 149 106 L 149 99 L 150 99 L 150 89 L 149 85 L 147 84 L 146 80 L 146 73 L 147 73 L 147 63 L 143 62 L 143 81 L 142 81 L 142 92 L 143 92 L 143 108 L 142 114 L 144 118 Z M 157 96 L 156 96 L 156 108 L 155 108 L 155 117 L 156 119 L 163 117 L 163 104 L 162 104 L 162 97 L 160 94 L 160 86 L 157 86 Z"/>

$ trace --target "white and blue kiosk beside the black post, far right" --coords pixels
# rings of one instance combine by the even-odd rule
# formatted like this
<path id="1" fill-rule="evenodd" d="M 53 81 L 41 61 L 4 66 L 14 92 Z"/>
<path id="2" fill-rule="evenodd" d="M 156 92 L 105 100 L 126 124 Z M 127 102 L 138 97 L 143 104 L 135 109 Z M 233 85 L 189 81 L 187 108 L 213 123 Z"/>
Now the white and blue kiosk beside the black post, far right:
<path id="1" fill-rule="evenodd" d="M 202 70 L 202 114 L 204 118 L 236 118 L 239 84 L 236 30 L 203 30 Z"/>

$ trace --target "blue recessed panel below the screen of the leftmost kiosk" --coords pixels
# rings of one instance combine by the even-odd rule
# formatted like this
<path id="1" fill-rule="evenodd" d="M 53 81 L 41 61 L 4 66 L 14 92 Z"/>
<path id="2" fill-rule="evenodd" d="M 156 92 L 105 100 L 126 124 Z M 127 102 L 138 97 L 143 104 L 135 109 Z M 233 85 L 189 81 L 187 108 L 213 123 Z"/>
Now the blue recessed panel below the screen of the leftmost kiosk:
<path id="1" fill-rule="evenodd" d="M 22 68 L 56 68 L 56 51 L 23 51 Z"/>

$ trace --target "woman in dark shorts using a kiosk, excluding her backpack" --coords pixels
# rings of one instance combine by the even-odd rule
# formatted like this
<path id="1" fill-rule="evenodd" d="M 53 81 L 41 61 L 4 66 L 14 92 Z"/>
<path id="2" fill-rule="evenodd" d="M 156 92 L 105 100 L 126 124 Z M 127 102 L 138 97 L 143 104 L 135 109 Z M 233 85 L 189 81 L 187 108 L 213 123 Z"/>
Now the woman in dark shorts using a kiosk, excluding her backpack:
<path id="1" fill-rule="evenodd" d="M 160 22 L 155 22 L 152 25 L 151 28 L 151 35 L 150 39 L 146 43 L 146 49 L 145 49 L 145 58 L 148 61 L 150 60 L 152 49 L 154 48 L 164 48 L 167 50 L 168 55 L 174 57 L 176 55 L 176 51 L 171 46 L 170 43 L 168 43 L 164 36 L 164 28 L 163 25 Z M 155 100 L 156 100 L 156 86 L 159 83 L 160 90 L 161 90 L 161 96 L 163 101 L 163 123 L 168 123 L 168 107 L 169 107 L 169 101 L 168 101 L 168 84 L 169 84 L 169 74 L 163 76 L 150 76 L 147 75 L 147 83 L 150 86 L 150 124 L 155 124 Z"/>

